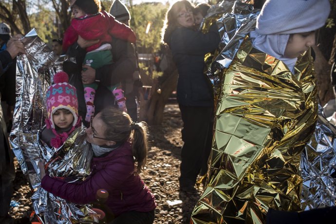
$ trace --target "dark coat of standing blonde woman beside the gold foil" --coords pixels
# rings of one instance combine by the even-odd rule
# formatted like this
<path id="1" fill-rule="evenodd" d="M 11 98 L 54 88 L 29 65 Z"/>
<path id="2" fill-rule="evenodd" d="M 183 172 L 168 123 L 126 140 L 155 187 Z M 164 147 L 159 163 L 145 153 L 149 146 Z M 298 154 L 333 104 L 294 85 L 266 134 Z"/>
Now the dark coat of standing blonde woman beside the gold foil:
<path id="1" fill-rule="evenodd" d="M 177 66 L 177 100 L 184 106 L 213 105 L 210 83 L 204 75 L 205 54 L 214 51 L 220 42 L 215 25 L 208 33 L 181 27 L 172 32 L 169 47 Z"/>

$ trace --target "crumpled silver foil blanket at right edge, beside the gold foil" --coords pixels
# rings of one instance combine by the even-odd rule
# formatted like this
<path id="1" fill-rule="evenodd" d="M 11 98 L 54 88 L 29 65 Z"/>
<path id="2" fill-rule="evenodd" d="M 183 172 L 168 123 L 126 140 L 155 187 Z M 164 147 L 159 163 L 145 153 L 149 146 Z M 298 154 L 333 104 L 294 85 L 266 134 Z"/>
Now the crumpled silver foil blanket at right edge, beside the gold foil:
<path id="1" fill-rule="evenodd" d="M 310 210 L 336 205 L 336 128 L 319 107 L 314 135 L 304 148 L 301 208 Z"/>

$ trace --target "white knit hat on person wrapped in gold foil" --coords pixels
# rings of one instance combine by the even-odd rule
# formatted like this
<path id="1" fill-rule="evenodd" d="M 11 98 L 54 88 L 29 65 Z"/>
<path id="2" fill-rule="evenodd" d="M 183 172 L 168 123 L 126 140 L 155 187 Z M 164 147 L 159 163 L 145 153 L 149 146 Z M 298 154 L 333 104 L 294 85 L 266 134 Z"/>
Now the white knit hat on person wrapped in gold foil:
<path id="1" fill-rule="evenodd" d="M 329 0 L 266 0 L 256 31 L 263 35 L 310 32 L 322 27 L 329 13 Z"/>

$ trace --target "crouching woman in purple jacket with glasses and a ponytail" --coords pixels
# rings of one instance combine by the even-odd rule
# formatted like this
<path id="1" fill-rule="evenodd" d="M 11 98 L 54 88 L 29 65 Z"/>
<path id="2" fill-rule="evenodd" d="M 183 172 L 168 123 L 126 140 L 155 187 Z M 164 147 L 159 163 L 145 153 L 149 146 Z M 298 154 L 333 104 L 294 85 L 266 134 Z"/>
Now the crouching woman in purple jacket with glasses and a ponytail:
<path id="1" fill-rule="evenodd" d="M 91 175 L 80 183 L 66 183 L 41 172 L 41 186 L 75 204 L 93 203 L 96 192 L 105 189 L 105 204 L 115 216 L 111 224 L 152 224 L 156 204 L 139 177 L 147 157 L 145 123 L 133 123 L 127 113 L 106 108 L 92 118 L 86 133 L 94 152 Z"/>

